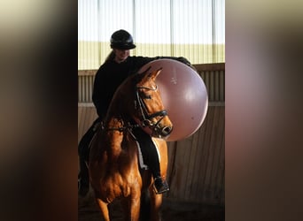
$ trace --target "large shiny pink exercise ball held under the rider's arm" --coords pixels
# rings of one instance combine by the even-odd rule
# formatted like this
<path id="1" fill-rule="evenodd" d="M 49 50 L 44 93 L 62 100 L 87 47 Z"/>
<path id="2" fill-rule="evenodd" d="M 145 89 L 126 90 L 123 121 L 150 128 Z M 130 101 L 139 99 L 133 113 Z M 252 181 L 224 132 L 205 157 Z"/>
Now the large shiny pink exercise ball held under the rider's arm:
<path id="1" fill-rule="evenodd" d="M 139 72 L 162 68 L 156 83 L 173 132 L 167 141 L 185 139 L 195 133 L 206 118 L 208 96 L 198 72 L 173 59 L 158 59 L 144 65 Z"/>

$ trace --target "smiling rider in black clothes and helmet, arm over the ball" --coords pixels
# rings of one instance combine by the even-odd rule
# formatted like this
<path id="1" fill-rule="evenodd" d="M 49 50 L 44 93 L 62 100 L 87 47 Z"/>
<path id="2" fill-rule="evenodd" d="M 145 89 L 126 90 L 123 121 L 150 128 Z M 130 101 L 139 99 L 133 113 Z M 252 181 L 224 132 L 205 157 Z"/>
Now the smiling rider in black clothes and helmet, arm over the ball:
<path id="1" fill-rule="evenodd" d="M 78 146 L 80 161 L 79 172 L 79 194 L 85 195 L 89 191 L 89 171 L 86 162 L 89 159 L 89 143 L 94 134 L 104 120 L 109 104 L 112 101 L 113 94 L 120 86 L 123 80 L 131 74 L 136 73 L 143 65 L 159 58 L 171 58 L 190 65 L 190 62 L 184 57 L 130 57 L 129 50 L 135 49 L 133 37 L 125 30 L 119 30 L 112 34 L 111 48 L 113 49 L 106 58 L 105 63 L 97 71 L 92 100 L 97 109 L 98 118 L 89 127 L 87 133 L 82 137 Z M 141 128 L 134 128 L 133 133 L 140 144 L 140 149 L 144 157 L 144 163 L 151 170 L 154 187 L 157 194 L 165 193 L 169 190 L 167 181 L 160 176 L 159 156 L 157 149 L 151 141 L 151 136 L 145 133 Z"/>

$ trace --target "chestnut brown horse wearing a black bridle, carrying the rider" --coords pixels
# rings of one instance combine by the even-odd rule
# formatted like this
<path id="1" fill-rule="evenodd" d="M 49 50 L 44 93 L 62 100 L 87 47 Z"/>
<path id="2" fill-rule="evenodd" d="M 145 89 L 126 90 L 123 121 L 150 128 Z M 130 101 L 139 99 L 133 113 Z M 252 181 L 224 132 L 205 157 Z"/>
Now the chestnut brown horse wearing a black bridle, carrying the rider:
<path id="1" fill-rule="evenodd" d="M 132 129 L 141 126 L 159 150 L 161 177 L 167 176 L 167 141 L 172 122 L 164 109 L 155 82 L 159 70 L 131 75 L 116 90 L 104 124 L 92 141 L 89 154 L 89 182 L 105 221 L 110 220 L 109 204 L 120 199 L 125 220 L 137 221 L 143 199 L 149 194 L 152 221 L 159 221 L 162 194 L 156 194 L 151 171 L 140 168 L 139 149 Z M 131 123 L 131 122 L 136 122 Z M 142 212 L 141 217 L 142 218 Z M 147 220 L 144 217 L 144 220 Z"/>

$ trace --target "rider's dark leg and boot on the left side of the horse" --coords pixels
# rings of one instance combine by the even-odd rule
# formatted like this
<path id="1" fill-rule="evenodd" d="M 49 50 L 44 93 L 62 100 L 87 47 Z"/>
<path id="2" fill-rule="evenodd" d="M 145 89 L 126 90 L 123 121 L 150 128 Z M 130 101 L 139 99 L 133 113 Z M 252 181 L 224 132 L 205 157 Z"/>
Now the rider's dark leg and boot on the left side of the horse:
<path id="1" fill-rule="evenodd" d="M 78 194 L 84 196 L 89 192 L 89 169 L 87 164 L 89 162 L 89 144 L 94 137 L 97 127 L 100 125 L 100 119 L 94 121 L 89 130 L 83 135 L 79 142 L 78 155 L 80 171 L 78 174 Z"/>

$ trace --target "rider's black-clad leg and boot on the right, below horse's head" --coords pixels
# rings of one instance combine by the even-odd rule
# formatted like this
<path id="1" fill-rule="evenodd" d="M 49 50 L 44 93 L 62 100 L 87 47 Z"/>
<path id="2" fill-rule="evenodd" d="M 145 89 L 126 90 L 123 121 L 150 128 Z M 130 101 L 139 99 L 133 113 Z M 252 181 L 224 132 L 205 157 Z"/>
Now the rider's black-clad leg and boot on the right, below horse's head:
<path id="1" fill-rule="evenodd" d="M 136 136 L 136 140 L 140 144 L 144 162 L 151 170 L 152 177 L 154 179 L 153 187 L 156 194 L 163 194 L 167 192 L 169 190 L 169 187 L 167 181 L 161 178 L 159 156 L 157 148 L 155 147 L 153 141 L 151 141 L 151 136 L 145 133 L 141 128 L 134 129 L 133 133 Z"/>

